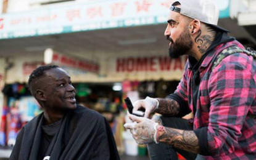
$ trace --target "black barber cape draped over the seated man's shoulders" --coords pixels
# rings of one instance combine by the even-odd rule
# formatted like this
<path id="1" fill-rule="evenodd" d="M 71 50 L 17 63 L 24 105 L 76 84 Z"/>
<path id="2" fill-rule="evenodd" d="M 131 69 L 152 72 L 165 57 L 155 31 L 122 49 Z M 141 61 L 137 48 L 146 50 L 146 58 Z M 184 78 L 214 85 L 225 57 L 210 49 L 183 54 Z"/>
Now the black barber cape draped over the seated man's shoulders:
<path id="1" fill-rule="evenodd" d="M 22 127 L 10 160 L 37 160 L 43 118 L 41 113 Z M 44 155 L 50 156 L 51 160 L 120 159 L 106 119 L 96 111 L 79 105 L 61 119 L 60 129 L 52 138 Z"/>

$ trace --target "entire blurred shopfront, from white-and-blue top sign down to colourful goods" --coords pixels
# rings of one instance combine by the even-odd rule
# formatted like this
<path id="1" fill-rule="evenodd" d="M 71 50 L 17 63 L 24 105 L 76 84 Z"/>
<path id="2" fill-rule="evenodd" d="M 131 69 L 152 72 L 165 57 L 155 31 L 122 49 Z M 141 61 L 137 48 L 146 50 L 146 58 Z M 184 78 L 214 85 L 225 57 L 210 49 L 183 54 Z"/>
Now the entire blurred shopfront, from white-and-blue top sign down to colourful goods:
<path id="1" fill-rule="evenodd" d="M 234 24 L 230 1 L 218 5 L 220 25 L 235 37 L 247 35 L 225 23 Z M 0 94 L 0 110 L 10 132 L 0 136 L 0 145 L 12 145 L 19 128 L 40 113 L 25 82 L 44 64 L 46 49 L 52 50 L 51 63 L 70 74 L 78 102 L 104 114 L 115 138 L 122 137 L 117 122 L 123 121 L 124 97 L 165 97 L 181 79 L 186 57 L 170 59 L 163 36 L 168 7 L 167 0 L 78 1 L 0 15 L 0 85 L 6 97 Z"/>

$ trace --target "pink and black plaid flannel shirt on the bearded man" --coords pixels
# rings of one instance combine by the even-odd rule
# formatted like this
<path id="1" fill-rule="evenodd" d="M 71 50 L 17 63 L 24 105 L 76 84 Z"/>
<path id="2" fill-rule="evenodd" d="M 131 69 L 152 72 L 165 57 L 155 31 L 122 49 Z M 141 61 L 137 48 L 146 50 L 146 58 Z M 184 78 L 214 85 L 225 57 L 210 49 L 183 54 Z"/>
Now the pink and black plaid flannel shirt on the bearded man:
<path id="1" fill-rule="evenodd" d="M 183 100 L 181 111 L 194 113 L 194 132 L 205 159 L 256 159 L 256 63 L 252 56 L 233 54 L 212 70 L 213 58 L 239 42 L 210 50 L 199 66 L 200 84 L 193 111 L 192 71 L 189 60 L 175 93 Z M 210 155 L 210 156 L 209 156 Z"/>

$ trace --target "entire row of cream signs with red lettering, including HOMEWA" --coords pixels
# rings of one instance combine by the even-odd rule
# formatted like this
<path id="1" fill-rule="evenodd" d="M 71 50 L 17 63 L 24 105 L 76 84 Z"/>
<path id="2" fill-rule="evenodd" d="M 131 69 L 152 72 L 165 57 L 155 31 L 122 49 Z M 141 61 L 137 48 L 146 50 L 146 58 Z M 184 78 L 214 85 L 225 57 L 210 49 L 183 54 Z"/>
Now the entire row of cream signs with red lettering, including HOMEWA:
<path id="1" fill-rule="evenodd" d="M 52 64 L 59 65 L 70 75 L 72 82 L 122 82 L 129 80 L 159 80 L 180 81 L 186 56 L 171 59 L 164 54 L 134 54 L 127 57 L 109 57 L 99 55 L 98 63 L 93 61 L 81 62 L 65 55 L 54 55 Z M 7 84 L 27 82 L 28 76 L 36 67 L 44 64 L 42 55 L 14 58 L 14 65 L 8 70 Z M 42 61 L 38 61 L 42 60 Z M 80 65 L 79 65 L 80 64 Z M 87 71 L 86 71 L 87 70 Z M 90 70 L 90 71 L 88 71 Z"/>

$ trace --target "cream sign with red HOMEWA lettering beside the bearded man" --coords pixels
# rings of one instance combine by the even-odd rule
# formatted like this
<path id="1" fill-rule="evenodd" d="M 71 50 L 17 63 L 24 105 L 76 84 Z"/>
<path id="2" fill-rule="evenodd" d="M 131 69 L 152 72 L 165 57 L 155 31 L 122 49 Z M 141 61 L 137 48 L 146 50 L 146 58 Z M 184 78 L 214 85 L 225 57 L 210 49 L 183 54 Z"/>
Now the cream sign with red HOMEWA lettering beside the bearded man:
<path id="1" fill-rule="evenodd" d="M 115 61 L 115 62 L 113 62 Z M 107 77 L 116 80 L 180 80 L 186 56 L 171 59 L 165 55 L 147 57 L 117 57 L 108 63 Z"/>

